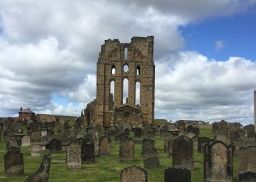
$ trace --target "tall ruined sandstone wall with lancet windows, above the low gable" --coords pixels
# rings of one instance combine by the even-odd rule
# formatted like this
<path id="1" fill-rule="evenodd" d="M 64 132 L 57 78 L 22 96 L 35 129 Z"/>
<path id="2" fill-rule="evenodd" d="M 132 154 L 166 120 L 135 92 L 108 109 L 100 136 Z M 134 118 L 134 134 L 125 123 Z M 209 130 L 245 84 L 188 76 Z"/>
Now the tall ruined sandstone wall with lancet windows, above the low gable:
<path id="1" fill-rule="evenodd" d="M 140 111 L 144 122 L 154 120 L 155 70 L 154 36 L 132 37 L 130 43 L 105 40 L 97 62 L 97 98 L 94 124 L 111 126 L 113 108 L 135 106 L 136 83 L 140 85 Z M 128 97 L 124 102 L 124 79 L 128 80 Z M 114 93 L 111 94 L 111 84 Z"/>

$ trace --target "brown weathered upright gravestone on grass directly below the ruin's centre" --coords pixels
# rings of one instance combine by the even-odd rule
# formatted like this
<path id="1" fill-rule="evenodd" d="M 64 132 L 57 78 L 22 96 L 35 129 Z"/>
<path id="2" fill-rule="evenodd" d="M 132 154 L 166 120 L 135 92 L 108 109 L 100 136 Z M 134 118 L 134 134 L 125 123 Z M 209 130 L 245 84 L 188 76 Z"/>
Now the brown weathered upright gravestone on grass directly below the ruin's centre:
<path id="1" fill-rule="evenodd" d="M 120 142 L 119 162 L 134 162 L 135 144 L 132 138 L 125 138 Z"/>

